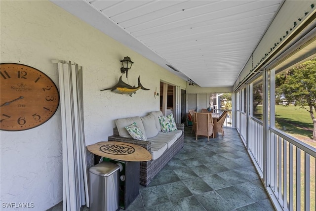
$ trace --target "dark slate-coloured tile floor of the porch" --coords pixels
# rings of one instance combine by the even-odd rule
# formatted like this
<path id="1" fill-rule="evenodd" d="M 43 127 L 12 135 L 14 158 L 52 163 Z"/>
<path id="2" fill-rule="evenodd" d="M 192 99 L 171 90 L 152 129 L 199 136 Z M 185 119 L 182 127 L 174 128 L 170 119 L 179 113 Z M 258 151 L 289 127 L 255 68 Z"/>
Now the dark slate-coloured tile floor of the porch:
<path id="1" fill-rule="evenodd" d="M 184 148 L 126 211 L 274 211 L 237 130 L 224 131 L 208 142 L 186 127 Z"/>

